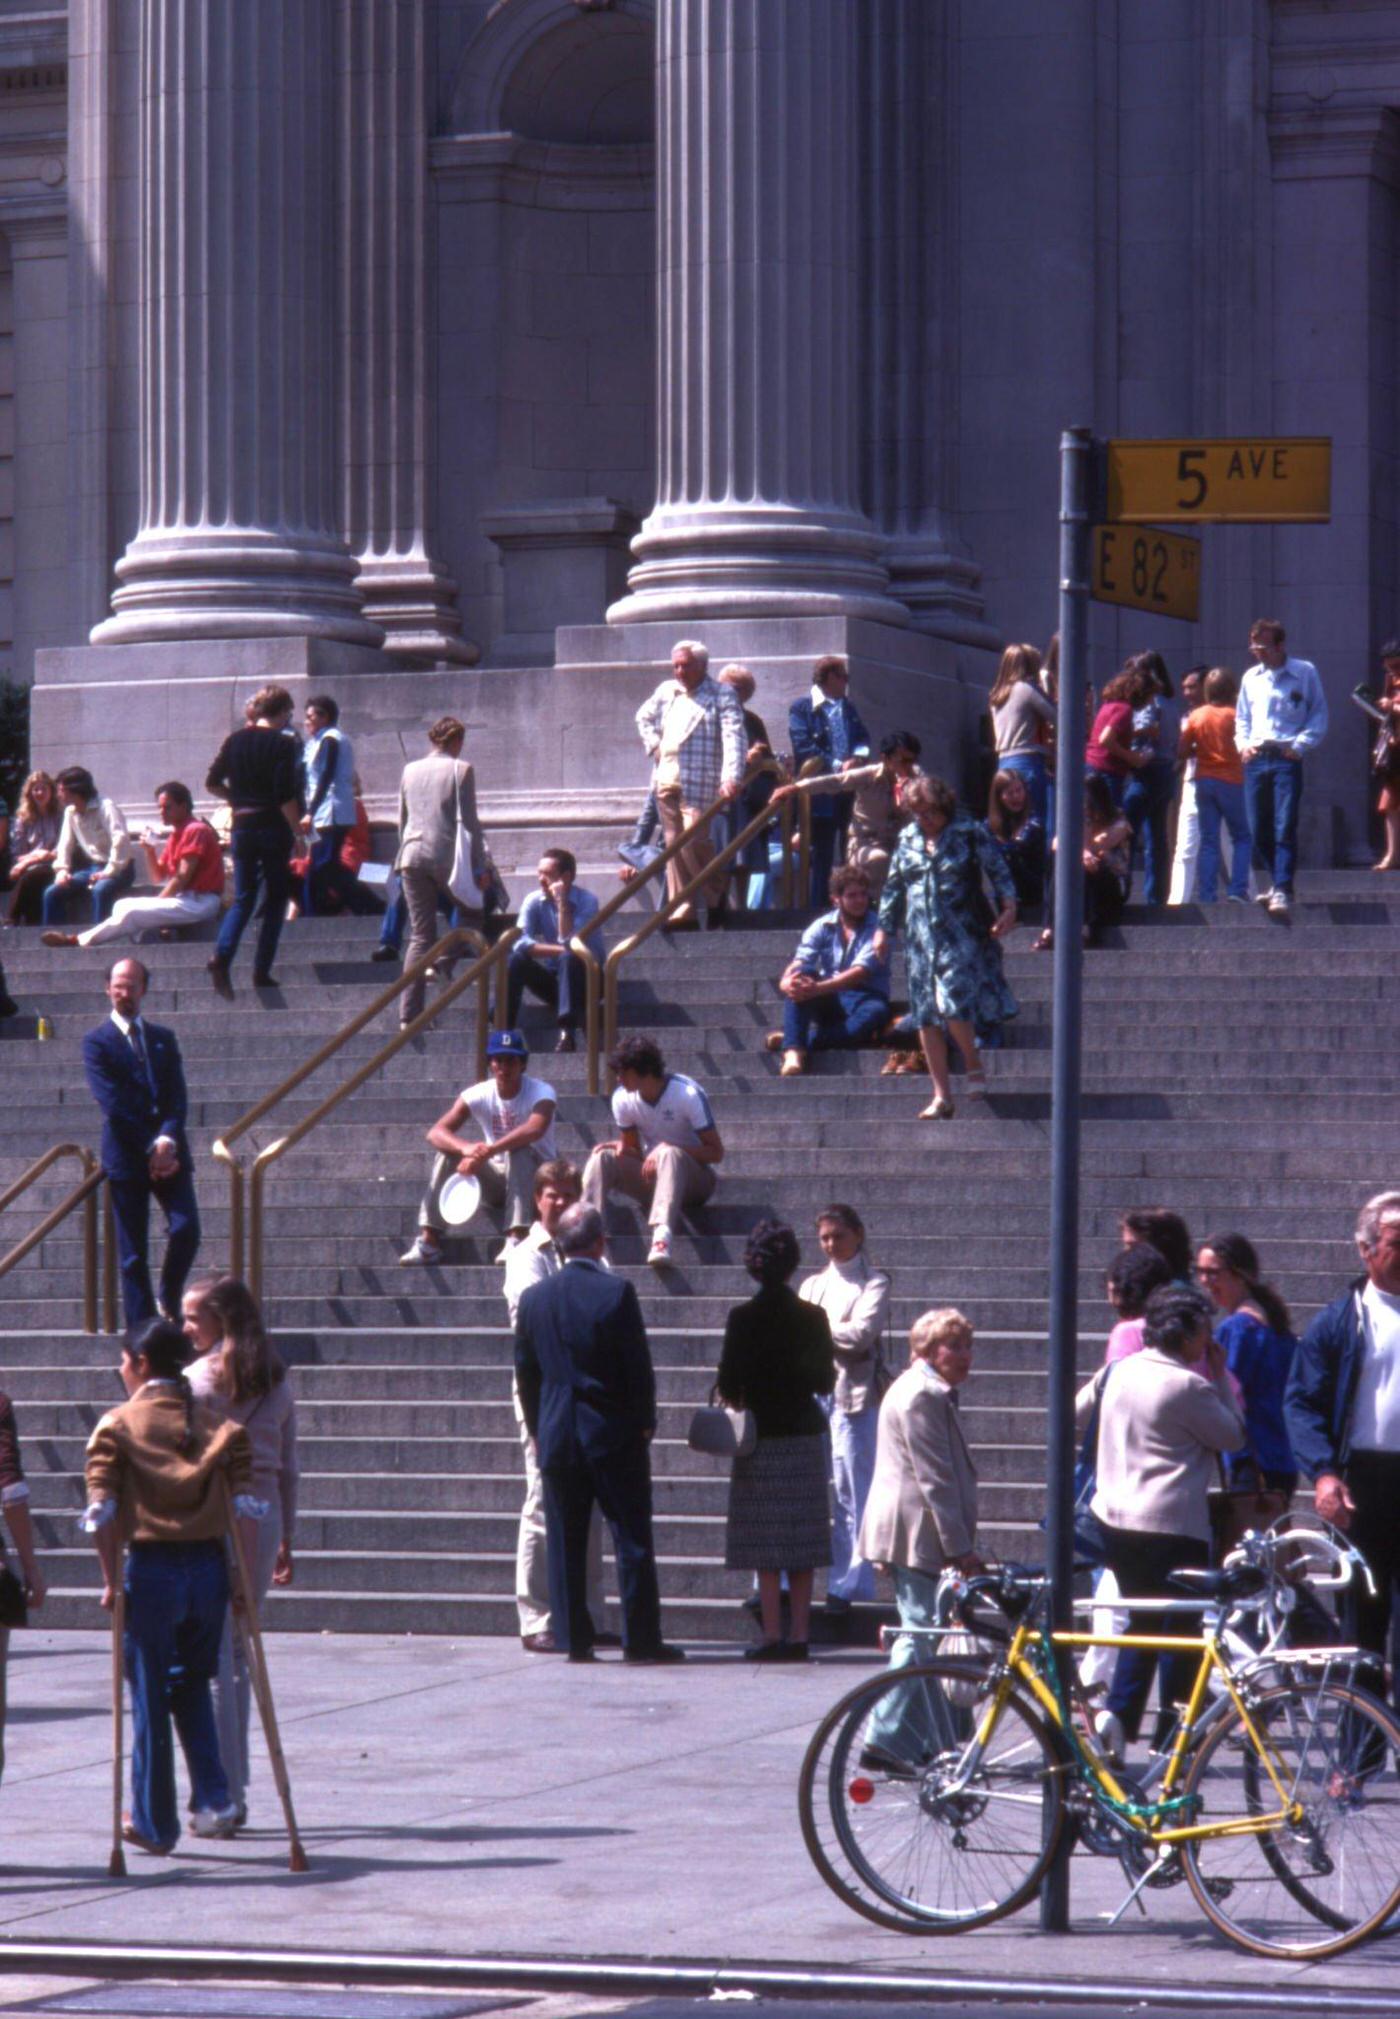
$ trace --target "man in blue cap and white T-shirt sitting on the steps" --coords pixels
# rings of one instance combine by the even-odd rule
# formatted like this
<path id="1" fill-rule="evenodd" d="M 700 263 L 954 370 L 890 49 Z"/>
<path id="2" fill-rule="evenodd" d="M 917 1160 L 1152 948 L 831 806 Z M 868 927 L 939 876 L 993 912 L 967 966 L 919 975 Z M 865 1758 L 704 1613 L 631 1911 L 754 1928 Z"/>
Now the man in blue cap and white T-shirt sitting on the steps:
<path id="1" fill-rule="evenodd" d="M 442 1209 L 438 1193 L 457 1171 L 475 1177 L 487 1205 L 505 1207 L 505 1246 L 497 1262 L 525 1240 L 535 1217 L 535 1171 L 558 1155 L 554 1143 L 554 1088 L 525 1072 L 529 1046 L 517 1030 L 493 1030 L 487 1038 L 489 1080 L 465 1086 L 446 1114 L 428 1129 L 436 1151 L 432 1177 L 418 1207 L 418 1236 L 400 1262 L 440 1262 Z M 475 1121 L 483 1141 L 471 1143 L 461 1131 Z"/>

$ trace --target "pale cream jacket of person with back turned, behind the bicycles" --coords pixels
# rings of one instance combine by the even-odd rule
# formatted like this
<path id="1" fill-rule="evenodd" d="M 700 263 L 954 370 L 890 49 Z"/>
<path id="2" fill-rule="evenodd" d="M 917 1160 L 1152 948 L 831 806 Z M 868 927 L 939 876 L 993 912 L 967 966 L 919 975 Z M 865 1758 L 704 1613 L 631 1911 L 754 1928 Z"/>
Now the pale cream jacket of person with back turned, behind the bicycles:
<path id="1" fill-rule="evenodd" d="M 1208 1540 L 1218 1454 L 1244 1444 L 1228 1375 L 1208 1381 L 1156 1347 L 1105 1373 L 1093 1512 L 1109 1528 Z M 1075 1401 L 1081 1431 L 1099 1379 L 1085 1381 Z"/>

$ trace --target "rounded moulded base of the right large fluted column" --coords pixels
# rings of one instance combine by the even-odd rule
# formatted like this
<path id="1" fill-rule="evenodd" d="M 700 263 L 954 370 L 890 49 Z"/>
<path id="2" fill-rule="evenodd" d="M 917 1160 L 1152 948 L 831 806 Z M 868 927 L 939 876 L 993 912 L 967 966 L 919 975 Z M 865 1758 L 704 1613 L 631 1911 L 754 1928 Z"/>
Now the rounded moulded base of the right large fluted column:
<path id="1" fill-rule="evenodd" d="M 685 618 L 865 618 L 901 626 L 881 539 L 867 519 L 798 509 L 655 511 L 632 541 L 638 565 L 608 624 Z"/>

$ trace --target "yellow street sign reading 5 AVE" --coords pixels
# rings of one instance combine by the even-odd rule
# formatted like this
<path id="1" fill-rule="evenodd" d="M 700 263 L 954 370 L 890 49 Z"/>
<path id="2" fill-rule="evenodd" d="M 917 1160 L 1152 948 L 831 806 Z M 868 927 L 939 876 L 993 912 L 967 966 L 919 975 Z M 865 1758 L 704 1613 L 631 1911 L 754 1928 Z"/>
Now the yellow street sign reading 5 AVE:
<path id="1" fill-rule="evenodd" d="M 1331 517 L 1331 438 L 1109 442 L 1107 519 L 1309 523 Z"/>

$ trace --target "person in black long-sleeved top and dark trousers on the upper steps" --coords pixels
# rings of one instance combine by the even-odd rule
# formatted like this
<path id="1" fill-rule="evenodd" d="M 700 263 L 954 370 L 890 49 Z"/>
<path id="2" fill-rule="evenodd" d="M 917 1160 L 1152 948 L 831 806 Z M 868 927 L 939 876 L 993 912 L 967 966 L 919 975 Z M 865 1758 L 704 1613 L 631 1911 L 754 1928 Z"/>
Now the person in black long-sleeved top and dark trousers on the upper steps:
<path id="1" fill-rule="evenodd" d="M 291 896 L 291 844 L 301 818 L 301 745 L 287 733 L 291 695 L 263 686 L 248 703 L 248 727 L 234 729 L 204 779 L 232 806 L 234 900 L 208 963 L 214 987 L 228 993 L 228 967 L 263 890 L 253 987 L 273 985 L 277 941 Z"/>

